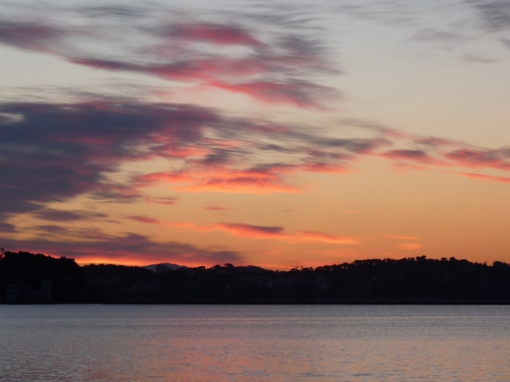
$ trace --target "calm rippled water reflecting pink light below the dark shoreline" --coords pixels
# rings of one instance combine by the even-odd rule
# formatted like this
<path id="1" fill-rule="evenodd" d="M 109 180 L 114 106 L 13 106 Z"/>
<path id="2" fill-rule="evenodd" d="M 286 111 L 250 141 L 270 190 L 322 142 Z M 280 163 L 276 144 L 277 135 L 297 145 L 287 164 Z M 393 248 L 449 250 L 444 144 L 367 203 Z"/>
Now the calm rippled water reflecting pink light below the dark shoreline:
<path id="1" fill-rule="evenodd" d="M 0 305 L 0 381 L 510 381 L 510 307 Z"/>

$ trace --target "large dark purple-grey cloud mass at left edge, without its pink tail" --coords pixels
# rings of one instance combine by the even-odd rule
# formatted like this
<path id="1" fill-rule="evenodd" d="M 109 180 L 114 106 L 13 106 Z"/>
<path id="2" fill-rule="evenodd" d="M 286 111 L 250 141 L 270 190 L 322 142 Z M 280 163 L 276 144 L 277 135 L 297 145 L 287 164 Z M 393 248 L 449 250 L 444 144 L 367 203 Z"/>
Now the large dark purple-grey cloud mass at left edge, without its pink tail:
<path id="1" fill-rule="evenodd" d="M 106 174 L 126 161 L 171 156 L 166 145 L 194 145 L 203 139 L 203 126 L 218 120 L 203 108 L 141 103 L 3 103 L 1 112 L 17 116 L 0 120 L 2 214 L 40 210 L 36 203 L 84 193 L 140 200 L 138 190 L 112 184 Z M 49 211 L 38 214 L 52 219 Z"/>

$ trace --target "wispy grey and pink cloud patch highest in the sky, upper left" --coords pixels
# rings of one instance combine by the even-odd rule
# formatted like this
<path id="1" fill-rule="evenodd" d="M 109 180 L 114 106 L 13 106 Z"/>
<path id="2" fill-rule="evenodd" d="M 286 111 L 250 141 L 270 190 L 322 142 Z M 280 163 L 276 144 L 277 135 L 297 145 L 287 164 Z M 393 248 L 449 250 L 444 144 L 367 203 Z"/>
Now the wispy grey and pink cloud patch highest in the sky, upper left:
<path id="1" fill-rule="evenodd" d="M 39 10 L 23 21 L 0 18 L 0 43 L 89 68 L 219 87 L 270 104 L 321 108 L 340 95 L 312 80 L 317 73 L 340 71 L 307 27 L 309 20 L 298 26 L 282 15 L 270 21 L 230 9 L 225 15 L 238 20 L 233 23 L 198 12 L 171 16 L 172 9 L 149 5 L 123 6 L 122 12 L 111 6 Z M 269 25 L 270 33 L 262 33 Z"/>

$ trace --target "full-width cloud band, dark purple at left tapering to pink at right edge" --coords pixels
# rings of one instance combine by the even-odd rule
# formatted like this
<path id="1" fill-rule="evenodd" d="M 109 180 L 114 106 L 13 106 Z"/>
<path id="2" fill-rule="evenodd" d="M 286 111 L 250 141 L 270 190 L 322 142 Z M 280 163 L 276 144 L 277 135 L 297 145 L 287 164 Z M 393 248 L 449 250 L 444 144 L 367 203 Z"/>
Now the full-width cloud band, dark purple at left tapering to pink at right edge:
<path id="1" fill-rule="evenodd" d="M 328 138 L 319 128 L 226 117 L 191 105 L 104 100 L 0 103 L 2 113 L 13 116 L 0 119 L 4 217 L 36 212 L 53 221 L 92 218 L 82 212 L 42 210 L 41 204 L 82 195 L 110 203 L 175 203 L 174 198 L 144 195 L 145 186 L 161 183 L 175 191 L 298 193 L 305 188 L 292 184 L 291 175 L 344 173 L 363 156 L 510 170 L 508 147 L 468 147 L 381 128 L 368 130 L 372 138 Z M 409 148 L 388 151 L 390 145 Z M 273 154 L 281 161 L 268 163 Z M 110 176 L 126 163 L 155 158 L 181 164 L 175 170 L 139 173 L 122 182 Z"/>

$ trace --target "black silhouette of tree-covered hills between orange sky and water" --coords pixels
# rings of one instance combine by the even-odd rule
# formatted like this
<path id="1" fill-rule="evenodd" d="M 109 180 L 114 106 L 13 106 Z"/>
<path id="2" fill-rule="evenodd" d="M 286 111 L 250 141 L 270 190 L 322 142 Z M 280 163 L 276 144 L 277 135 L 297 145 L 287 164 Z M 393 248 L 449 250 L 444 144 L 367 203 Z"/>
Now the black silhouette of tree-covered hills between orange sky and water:
<path id="1" fill-rule="evenodd" d="M 38 291 L 49 284 L 50 298 L 41 297 Z M 225 264 L 153 272 L 6 252 L 0 259 L 0 302 L 509 304 L 510 265 L 418 256 L 289 271 Z"/>

